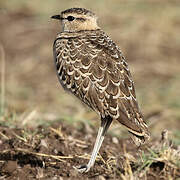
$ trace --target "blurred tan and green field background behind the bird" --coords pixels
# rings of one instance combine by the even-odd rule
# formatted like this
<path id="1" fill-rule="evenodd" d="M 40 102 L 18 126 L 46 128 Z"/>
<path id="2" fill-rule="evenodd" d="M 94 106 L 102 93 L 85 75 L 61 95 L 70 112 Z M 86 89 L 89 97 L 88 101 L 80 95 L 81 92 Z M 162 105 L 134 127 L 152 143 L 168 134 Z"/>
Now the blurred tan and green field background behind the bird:
<path id="1" fill-rule="evenodd" d="M 9 126 L 12 122 L 16 126 L 37 126 L 58 120 L 72 124 L 100 123 L 94 112 L 64 92 L 56 77 L 52 44 L 60 24 L 50 17 L 71 7 L 96 13 L 100 27 L 124 52 L 152 135 L 159 136 L 168 129 L 178 140 L 178 0 L 0 1 L 1 123 Z M 112 129 L 118 135 L 125 131 L 116 123 Z"/>

